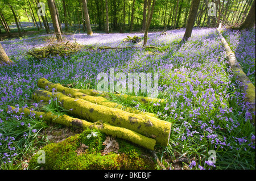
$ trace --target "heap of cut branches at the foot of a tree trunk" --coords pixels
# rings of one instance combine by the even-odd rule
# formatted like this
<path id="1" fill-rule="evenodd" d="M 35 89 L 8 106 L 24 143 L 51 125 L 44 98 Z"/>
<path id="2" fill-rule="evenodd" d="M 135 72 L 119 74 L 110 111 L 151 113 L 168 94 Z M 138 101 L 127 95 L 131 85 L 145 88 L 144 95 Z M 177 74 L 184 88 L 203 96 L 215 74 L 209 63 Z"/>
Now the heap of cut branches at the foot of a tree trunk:
<path id="1" fill-rule="evenodd" d="M 81 48 L 82 46 L 80 44 L 70 43 L 67 41 L 66 43 L 50 43 L 43 48 L 34 48 L 27 51 L 27 54 L 35 57 L 38 60 L 42 60 L 50 56 L 69 56 L 73 53 L 79 52 Z"/>

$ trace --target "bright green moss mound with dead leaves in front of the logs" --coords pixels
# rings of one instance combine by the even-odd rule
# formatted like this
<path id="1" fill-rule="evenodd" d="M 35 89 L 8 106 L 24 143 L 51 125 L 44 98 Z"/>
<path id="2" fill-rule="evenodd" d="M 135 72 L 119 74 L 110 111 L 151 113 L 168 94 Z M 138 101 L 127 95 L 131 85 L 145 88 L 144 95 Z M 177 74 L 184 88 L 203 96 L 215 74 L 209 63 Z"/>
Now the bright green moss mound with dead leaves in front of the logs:
<path id="1" fill-rule="evenodd" d="M 95 130 L 93 132 L 96 132 Z M 118 153 L 101 154 L 105 148 L 105 134 L 97 132 L 97 136 L 88 135 L 93 133 L 86 129 L 81 134 L 67 138 L 66 140 L 45 146 L 42 150 L 46 153 L 46 162 L 38 163 L 40 155 L 35 154 L 30 162 L 29 169 L 49 170 L 77 170 L 77 169 L 156 169 L 156 164 L 149 156 L 145 157 L 147 151 L 122 139 L 119 143 Z M 88 146 L 82 153 L 78 154 L 81 145 Z"/>

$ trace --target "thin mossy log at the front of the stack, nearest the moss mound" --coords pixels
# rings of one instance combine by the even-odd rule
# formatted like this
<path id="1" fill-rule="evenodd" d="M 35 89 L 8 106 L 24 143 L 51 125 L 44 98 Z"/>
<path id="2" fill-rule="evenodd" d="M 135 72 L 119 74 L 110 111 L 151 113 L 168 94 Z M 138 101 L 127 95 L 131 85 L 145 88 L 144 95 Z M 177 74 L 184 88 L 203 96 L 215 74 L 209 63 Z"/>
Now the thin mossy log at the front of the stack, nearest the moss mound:
<path id="1" fill-rule="evenodd" d="M 20 108 L 19 110 L 17 110 L 15 107 L 11 107 L 11 108 L 16 114 L 20 114 L 23 112 L 25 116 L 34 115 L 36 118 L 43 119 L 48 123 L 49 122 L 58 123 L 58 124 L 66 125 L 67 127 L 76 127 L 81 129 L 88 129 L 88 128 L 98 129 L 105 134 L 118 137 L 118 138 L 123 138 L 124 140 L 131 141 L 134 144 L 137 144 L 144 148 L 154 150 L 154 146 L 156 142 L 154 139 L 148 138 L 146 136 L 143 136 L 142 134 L 131 131 L 129 129 L 114 127 L 113 125 L 102 123 L 101 121 L 96 123 L 90 123 L 88 121 L 70 117 L 68 115 L 57 116 L 57 115 L 53 115 L 52 112 L 45 113 L 45 112 L 38 112 L 38 111 L 30 111 L 27 108 Z"/>

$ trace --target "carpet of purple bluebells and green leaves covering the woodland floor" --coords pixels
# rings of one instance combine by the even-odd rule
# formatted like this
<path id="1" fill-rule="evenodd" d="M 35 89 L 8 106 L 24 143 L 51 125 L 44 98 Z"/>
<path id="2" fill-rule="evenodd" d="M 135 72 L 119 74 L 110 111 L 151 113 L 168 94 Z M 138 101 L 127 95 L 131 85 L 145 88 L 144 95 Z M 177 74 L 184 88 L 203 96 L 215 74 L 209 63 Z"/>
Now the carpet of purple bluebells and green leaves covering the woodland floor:
<path id="1" fill-rule="evenodd" d="M 255 127 L 250 123 L 250 105 L 243 102 L 229 68 L 224 47 L 215 28 L 195 28 L 192 37 L 180 43 L 185 30 L 149 33 L 147 45 L 162 47 L 156 54 L 143 49 L 81 50 L 71 57 L 50 57 L 38 61 L 26 56 L 26 50 L 47 45 L 53 35 L 28 36 L 1 41 L 8 56 L 16 62 L 0 67 L 0 163 L 20 160 L 32 146 L 36 134 L 46 125 L 31 117 L 14 116 L 8 106 L 38 106 L 31 94 L 39 89 L 38 79 L 67 84 L 77 88 L 88 83 L 96 89 L 98 73 L 158 73 L 159 98 L 166 104 L 152 104 L 151 110 L 161 119 L 172 122 L 170 144 L 161 148 L 159 157 L 189 158 L 188 169 L 255 169 Z M 65 41 L 76 41 L 92 47 L 122 47 L 127 36 L 142 33 L 86 33 L 63 35 Z M 248 76 L 255 76 L 255 28 L 248 32 L 225 31 L 238 60 Z M 247 43 L 250 39 L 250 43 Z M 135 46 L 141 46 L 137 44 Z M 255 79 L 252 79 L 255 85 Z M 144 94 L 138 94 L 144 95 Z M 142 108 L 138 104 L 135 108 Z M 15 127 L 15 128 L 14 128 Z M 22 153 L 20 153 L 20 150 Z M 216 162 L 211 162 L 214 151 Z M 178 155 L 178 156 L 177 156 Z"/>

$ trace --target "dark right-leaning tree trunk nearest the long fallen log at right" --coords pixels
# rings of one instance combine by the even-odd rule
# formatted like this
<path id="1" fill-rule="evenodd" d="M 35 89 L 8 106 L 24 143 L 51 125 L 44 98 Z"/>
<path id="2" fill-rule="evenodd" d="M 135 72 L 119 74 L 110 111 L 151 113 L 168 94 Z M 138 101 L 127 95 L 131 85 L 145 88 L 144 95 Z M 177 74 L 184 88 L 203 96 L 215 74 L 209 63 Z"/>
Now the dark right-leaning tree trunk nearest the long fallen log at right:
<path id="1" fill-rule="evenodd" d="M 187 41 L 188 38 L 191 37 L 191 33 L 193 30 L 193 26 L 195 24 L 196 14 L 199 8 L 199 4 L 200 4 L 200 0 L 192 0 L 191 2 L 191 9 L 190 9 L 188 20 L 187 20 L 186 31 L 183 37 L 183 40 L 185 41 Z"/>

